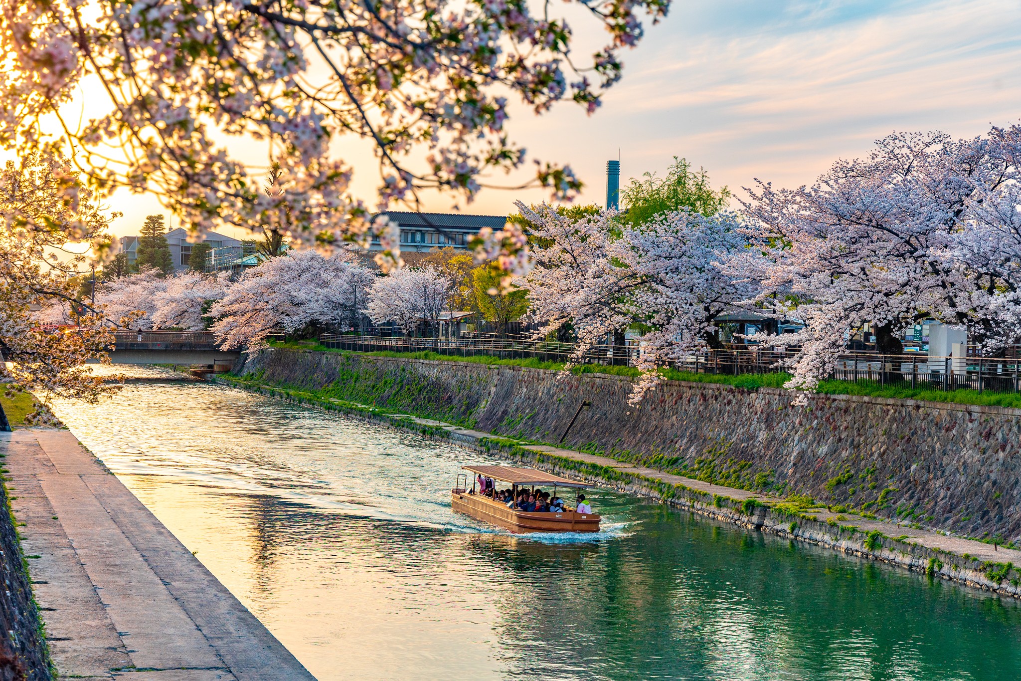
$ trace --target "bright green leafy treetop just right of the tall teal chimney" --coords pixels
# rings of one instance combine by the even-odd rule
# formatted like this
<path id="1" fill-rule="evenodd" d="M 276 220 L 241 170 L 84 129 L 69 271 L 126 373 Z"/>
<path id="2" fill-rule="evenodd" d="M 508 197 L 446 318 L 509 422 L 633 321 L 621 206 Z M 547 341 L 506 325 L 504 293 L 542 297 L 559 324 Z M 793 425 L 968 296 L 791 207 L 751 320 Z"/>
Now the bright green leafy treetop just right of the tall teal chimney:
<path id="1" fill-rule="evenodd" d="M 727 206 L 730 190 L 714 190 L 709 174 L 703 168 L 691 169 L 691 163 L 674 156 L 674 163 L 667 168 L 667 177 L 658 178 L 646 173 L 642 181 L 632 180 L 621 190 L 622 203 L 626 206 L 623 222 L 634 227 L 647 223 L 668 210 L 688 208 L 703 215 L 713 215 Z"/>

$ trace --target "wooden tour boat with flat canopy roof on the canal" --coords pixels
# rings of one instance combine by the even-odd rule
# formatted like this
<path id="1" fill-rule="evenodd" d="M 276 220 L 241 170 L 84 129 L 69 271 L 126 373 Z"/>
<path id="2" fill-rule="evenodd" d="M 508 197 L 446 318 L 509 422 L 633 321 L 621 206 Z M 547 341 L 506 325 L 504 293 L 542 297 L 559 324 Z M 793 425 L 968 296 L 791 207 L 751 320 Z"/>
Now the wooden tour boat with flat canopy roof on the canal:
<path id="1" fill-rule="evenodd" d="M 465 471 L 492 478 L 510 484 L 510 489 L 518 496 L 518 488 L 552 487 L 556 497 L 557 487 L 584 489 L 590 487 L 583 482 L 561 478 L 543 471 L 533 469 L 516 469 L 509 466 L 463 466 Z M 472 489 L 468 489 L 468 475 L 458 474 L 456 485 L 450 490 L 450 503 L 453 509 L 468 514 L 481 521 L 498 525 L 512 532 L 598 532 L 599 516 L 597 514 L 579 514 L 574 509 L 561 512 L 528 513 L 517 507 L 509 508 L 503 501 L 498 501 L 476 490 L 476 478 L 472 479 Z M 494 492 L 495 494 L 495 492 Z"/>

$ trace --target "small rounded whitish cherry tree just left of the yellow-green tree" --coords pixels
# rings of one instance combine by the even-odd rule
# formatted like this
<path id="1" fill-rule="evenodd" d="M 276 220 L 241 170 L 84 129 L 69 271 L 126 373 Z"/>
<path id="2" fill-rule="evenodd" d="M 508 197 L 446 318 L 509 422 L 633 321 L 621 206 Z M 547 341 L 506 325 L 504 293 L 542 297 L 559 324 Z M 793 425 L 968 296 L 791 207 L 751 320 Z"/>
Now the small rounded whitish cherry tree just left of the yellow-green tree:
<path id="1" fill-rule="evenodd" d="M 431 266 L 395 270 L 373 284 L 366 312 L 376 324 L 392 322 L 408 333 L 423 323 L 435 327 L 450 289 L 450 280 Z"/>

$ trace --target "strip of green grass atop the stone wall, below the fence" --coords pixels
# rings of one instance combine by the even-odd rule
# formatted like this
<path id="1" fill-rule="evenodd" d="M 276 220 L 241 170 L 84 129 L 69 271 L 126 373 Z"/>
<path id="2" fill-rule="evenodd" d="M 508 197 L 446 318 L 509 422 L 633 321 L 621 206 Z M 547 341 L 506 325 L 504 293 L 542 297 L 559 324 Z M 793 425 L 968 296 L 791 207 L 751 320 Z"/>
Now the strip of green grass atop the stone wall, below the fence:
<path id="1" fill-rule="evenodd" d="M 374 357 L 405 357 L 409 359 L 435 359 L 439 361 L 469 361 L 479 364 L 500 364 L 506 367 L 528 367 L 530 369 L 547 369 L 562 371 L 562 361 L 542 361 L 535 357 L 528 359 L 501 359 L 493 355 L 469 355 L 459 356 L 453 354 L 440 354 L 432 350 L 419 352 L 395 352 L 392 350 L 380 352 L 354 352 L 352 350 L 340 350 L 328 348 L 317 341 L 289 341 L 286 343 L 270 342 L 271 347 L 301 350 L 320 350 L 324 352 L 349 352 L 351 354 L 363 354 Z M 611 367 L 603 364 L 582 364 L 572 369 L 572 373 L 580 374 L 610 374 L 612 376 L 639 375 L 637 369 L 633 367 Z M 661 375 L 671 381 L 687 381 L 689 383 L 717 383 L 732 385 L 746 390 L 758 390 L 759 388 L 782 388 L 790 380 L 790 375 L 784 372 L 773 374 L 738 374 L 737 376 L 725 374 L 692 374 L 689 372 L 679 372 L 674 369 L 663 369 Z M 865 395 L 872 397 L 889 397 L 893 399 L 919 399 L 932 402 L 953 402 L 956 404 L 977 404 L 989 406 L 1009 406 L 1021 408 L 1021 395 L 995 392 L 978 392 L 976 390 L 953 390 L 943 392 L 940 390 L 929 390 L 923 388 L 912 388 L 910 383 L 896 383 L 879 385 L 877 381 L 861 379 L 859 381 L 823 381 L 819 384 L 819 392 L 826 395 Z"/>

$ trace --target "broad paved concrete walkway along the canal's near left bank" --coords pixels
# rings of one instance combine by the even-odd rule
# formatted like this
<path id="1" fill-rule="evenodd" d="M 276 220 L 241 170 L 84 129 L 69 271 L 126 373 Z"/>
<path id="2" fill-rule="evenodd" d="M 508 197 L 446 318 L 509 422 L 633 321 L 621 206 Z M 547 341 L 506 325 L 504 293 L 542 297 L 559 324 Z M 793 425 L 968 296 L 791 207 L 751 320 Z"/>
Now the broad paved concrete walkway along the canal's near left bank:
<path id="1" fill-rule="evenodd" d="M 14 516 L 60 677 L 313 677 L 67 431 L 0 433 Z"/>

